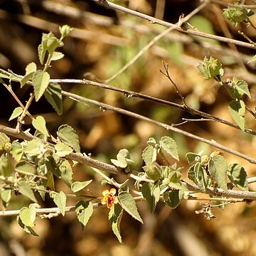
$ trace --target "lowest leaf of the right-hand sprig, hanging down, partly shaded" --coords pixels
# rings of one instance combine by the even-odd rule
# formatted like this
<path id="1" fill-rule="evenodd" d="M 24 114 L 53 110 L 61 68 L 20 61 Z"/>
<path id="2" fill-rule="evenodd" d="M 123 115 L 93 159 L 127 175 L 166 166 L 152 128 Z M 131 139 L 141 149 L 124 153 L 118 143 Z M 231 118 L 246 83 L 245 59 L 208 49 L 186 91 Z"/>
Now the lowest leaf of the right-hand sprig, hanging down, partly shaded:
<path id="1" fill-rule="evenodd" d="M 242 131 L 245 130 L 245 102 L 233 100 L 228 105 L 228 112 Z"/>

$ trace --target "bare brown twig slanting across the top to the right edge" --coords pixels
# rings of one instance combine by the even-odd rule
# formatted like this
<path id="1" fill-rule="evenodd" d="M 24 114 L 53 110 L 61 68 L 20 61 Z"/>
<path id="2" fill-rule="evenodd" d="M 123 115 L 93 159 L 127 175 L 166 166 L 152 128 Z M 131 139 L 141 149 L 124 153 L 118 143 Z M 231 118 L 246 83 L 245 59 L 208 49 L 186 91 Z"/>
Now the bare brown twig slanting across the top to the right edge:
<path id="1" fill-rule="evenodd" d="M 154 18 L 152 16 L 142 14 L 138 11 L 133 11 L 131 9 L 128 9 L 128 8 L 124 7 L 124 6 L 119 6 L 118 4 L 113 4 L 113 3 L 111 3 L 110 1 L 107 1 L 107 0 L 104 0 L 104 1 L 92 0 L 92 1 L 95 1 L 95 2 L 97 2 L 97 4 L 101 4 L 102 6 L 105 6 L 105 7 L 110 8 L 110 9 L 114 9 L 114 10 L 117 10 L 117 11 L 122 11 L 126 14 L 137 16 L 139 18 L 144 18 L 145 20 L 149 21 L 150 23 L 155 23 L 155 24 L 159 24 L 161 26 L 174 28 L 174 30 L 180 31 L 182 33 L 188 33 L 188 34 L 193 35 L 193 36 L 201 36 L 203 38 L 215 39 L 217 41 L 224 42 L 224 43 L 234 43 L 237 46 L 256 49 L 256 46 L 252 43 L 245 43 L 245 42 L 234 40 L 234 39 L 231 39 L 231 38 L 225 38 L 223 36 L 215 36 L 215 35 L 212 35 L 212 34 L 209 34 L 209 33 L 204 33 L 204 32 L 196 31 L 196 30 L 193 30 L 193 29 L 183 29 L 180 26 L 175 25 L 173 23 L 169 23 L 167 21 L 161 21 L 158 18 Z"/>

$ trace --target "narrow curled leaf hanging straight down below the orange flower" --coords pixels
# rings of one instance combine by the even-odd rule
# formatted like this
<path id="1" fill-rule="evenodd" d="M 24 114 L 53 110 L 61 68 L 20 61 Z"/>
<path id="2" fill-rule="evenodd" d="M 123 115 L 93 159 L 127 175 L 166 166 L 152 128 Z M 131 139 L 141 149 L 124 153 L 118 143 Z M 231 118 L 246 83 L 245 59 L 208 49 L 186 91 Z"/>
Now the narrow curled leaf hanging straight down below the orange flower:
<path id="1" fill-rule="evenodd" d="M 122 220 L 123 212 L 124 212 L 123 209 L 117 203 L 117 204 L 114 204 L 112 208 L 110 208 L 110 213 L 109 213 L 109 220 L 111 223 L 113 233 L 114 235 L 116 235 L 119 242 L 122 242 L 122 237 L 120 233 L 120 223 Z"/>

